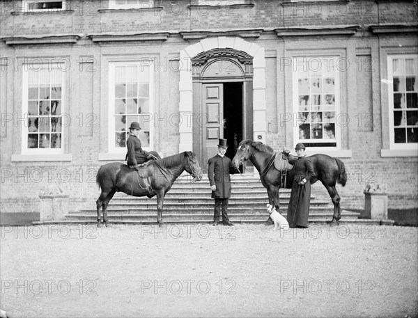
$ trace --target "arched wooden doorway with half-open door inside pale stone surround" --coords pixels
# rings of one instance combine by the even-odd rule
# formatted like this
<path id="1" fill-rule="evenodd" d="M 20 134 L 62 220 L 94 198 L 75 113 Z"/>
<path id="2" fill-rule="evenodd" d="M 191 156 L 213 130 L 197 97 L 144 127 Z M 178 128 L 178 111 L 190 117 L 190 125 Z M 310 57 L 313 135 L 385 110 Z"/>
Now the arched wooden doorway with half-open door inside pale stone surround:
<path id="1" fill-rule="evenodd" d="M 242 139 L 252 138 L 252 57 L 233 49 L 212 49 L 192 58 L 193 151 L 204 167 L 228 140 L 232 158 Z"/>

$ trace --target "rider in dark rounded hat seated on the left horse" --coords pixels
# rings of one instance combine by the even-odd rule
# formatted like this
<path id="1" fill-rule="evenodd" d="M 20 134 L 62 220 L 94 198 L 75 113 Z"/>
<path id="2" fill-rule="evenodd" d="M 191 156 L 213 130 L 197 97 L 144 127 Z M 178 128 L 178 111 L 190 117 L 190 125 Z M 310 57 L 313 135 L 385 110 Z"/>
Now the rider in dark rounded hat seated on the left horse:
<path id="1" fill-rule="evenodd" d="M 127 153 L 125 160 L 127 159 L 127 165 L 135 170 L 138 170 L 139 164 L 144 164 L 144 162 L 150 159 L 155 159 L 155 157 L 160 159 L 158 154 L 155 156 L 142 149 L 141 141 L 138 138 L 139 130 L 141 130 L 139 122 L 132 122 L 129 127 L 130 136 L 126 141 Z"/>

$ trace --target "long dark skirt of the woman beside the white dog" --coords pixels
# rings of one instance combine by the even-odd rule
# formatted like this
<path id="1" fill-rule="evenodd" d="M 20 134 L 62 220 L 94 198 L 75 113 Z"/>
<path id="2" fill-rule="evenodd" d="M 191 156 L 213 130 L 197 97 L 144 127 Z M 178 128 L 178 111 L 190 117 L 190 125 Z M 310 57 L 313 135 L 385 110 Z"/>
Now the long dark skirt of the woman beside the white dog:
<path id="1" fill-rule="evenodd" d="M 309 203 L 311 201 L 311 182 L 308 180 L 303 186 L 299 186 L 297 182 L 299 180 L 293 181 L 287 221 L 289 226 L 302 226 L 307 228 Z"/>

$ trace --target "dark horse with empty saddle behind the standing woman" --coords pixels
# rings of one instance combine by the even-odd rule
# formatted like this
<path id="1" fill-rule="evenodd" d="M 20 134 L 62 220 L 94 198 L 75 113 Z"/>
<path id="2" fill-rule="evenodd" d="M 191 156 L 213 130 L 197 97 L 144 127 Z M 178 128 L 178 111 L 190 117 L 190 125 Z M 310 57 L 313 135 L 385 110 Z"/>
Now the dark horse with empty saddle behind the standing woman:
<path id="1" fill-rule="evenodd" d="M 281 185 L 281 173 L 272 165 L 274 151 L 268 145 L 258 141 L 241 141 L 238 151 L 232 159 L 232 164 L 239 167 L 243 161 L 250 160 L 260 173 L 261 183 L 267 189 L 270 205 L 274 205 L 279 211 L 279 189 Z M 318 180 L 323 183 L 334 204 L 334 215 L 332 224 L 338 224 L 341 218 L 340 196 L 336 192 L 335 184 L 338 182 L 342 186 L 346 185 L 347 175 L 343 161 L 338 158 L 327 156 L 326 154 L 314 154 L 308 157 L 314 166 L 315 177 L 311 179 L 311 184 Z M 294 171 L 289 170 L 286 177 L 286 188 L 291 189 Z"/>

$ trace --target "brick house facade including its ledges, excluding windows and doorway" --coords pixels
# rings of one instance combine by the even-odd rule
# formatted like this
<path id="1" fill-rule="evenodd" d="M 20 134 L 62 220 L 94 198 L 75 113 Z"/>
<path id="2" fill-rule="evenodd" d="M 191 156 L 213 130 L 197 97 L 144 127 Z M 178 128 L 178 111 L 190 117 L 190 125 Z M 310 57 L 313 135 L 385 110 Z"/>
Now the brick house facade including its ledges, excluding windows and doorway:
<path id="1" fill-rule="evenodd" d="M 111 61 L 153 59 L 154 111 L 162 119 L 154 121 L 153 143 L 164 155 L 178 153 L 181 129 L 164 122 L 164 114 L 184 107 L 180 51 L 204 39 L 217 39 L 222 48 L 226 38 L 263 49 L 264 141 L 274 150 L 293 148 L 294 142 L 293 123 L 283 120 L 293 113 L 286 58 L 336 54 L 348 61 L 340 72 L 341 113 L 349 120 L 341 125 L 345 152 L 330 152 L 348 171 L 347 185 L 337 188 L 342 207 L 364 206 L 366 182 L 385 184 L 389 208 L 417 207 L 417 148 L 412 155 L 382 156 L 389 149 L 387 54 L 417 55 L 414 1 L 259 0 L 210 7 L 196 0 L 156 0 L 153 8 L 140 10 L 113 10 L 107 2 L 71 1 L 69 10 L 47 13 L 20 12 L 21 1 L 0 3 L 1 213 L 38 212 L 38 195 L 49 184 L 60 184 L 70 195 L 70 210 L 95 205 L 95 172 L 123 160 L 121 154 L 107 157 Z M 70 122 L 61 159 L 22 154 L 22 67 L 37 58 L 67 63 Z M 313 193 L 328 200 L 323 186 L 314 186 Z"/>

